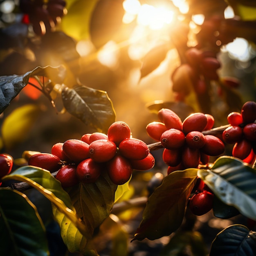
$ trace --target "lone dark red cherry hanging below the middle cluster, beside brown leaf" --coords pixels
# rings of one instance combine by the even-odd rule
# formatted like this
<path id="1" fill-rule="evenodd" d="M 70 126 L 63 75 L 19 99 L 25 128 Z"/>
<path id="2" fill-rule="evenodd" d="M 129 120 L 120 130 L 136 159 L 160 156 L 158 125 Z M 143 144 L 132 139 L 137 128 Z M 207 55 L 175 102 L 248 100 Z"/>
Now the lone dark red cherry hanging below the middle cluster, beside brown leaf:
<path id="1" fill-rule="evenodd" d="M 189 201 L 189 208 L 196 216 L 204 215 L 213 207 L 213 194 L 209 192 L 200 192 L 194 194 Z"/>

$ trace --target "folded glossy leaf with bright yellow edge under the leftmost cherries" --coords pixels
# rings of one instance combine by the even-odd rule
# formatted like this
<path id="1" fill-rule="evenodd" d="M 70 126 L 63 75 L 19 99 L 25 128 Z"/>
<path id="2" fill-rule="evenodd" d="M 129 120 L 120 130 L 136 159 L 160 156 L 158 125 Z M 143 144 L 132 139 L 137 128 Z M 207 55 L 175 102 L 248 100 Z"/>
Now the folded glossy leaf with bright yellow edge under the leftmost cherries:
<path id="1" fill-rule="evenodd" d="M 2 180 L 26 182 L 49 199 L 59 211 L 74 223 L 82 234 L 88 234 L 85 226 L 76 215 L 70 196 L 63 190 L 61 182 L 52 177 L 49 171 L 35 166 L 22 166 L 9 175 L 2 177 Z"/>

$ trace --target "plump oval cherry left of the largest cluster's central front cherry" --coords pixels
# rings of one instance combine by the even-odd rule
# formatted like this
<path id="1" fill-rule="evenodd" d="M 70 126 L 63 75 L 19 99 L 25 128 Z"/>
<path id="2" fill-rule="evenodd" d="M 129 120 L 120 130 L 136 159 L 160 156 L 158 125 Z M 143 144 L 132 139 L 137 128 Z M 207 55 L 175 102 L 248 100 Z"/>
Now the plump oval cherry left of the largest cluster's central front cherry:
<path id="1" fill-rule="evenodd" d="M 89 145 L 80 139 L 68 139 L 62 146 L 63 153 L 73 162 L 79 163 L 90 157 Z"/>

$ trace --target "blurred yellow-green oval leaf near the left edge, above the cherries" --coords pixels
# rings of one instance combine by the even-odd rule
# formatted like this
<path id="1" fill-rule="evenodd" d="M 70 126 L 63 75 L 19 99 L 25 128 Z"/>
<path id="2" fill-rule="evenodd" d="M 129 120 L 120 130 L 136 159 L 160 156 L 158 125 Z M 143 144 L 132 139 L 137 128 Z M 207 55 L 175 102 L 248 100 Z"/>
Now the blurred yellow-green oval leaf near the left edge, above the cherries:
<path id="1" fill-rule="evenodd" d="M 1 132 L 4 146 L 11 149 L 29 137 L 32 125 L 38 119 L 40 108 L 27 104 L 13 110 L 3 121 Z"/>

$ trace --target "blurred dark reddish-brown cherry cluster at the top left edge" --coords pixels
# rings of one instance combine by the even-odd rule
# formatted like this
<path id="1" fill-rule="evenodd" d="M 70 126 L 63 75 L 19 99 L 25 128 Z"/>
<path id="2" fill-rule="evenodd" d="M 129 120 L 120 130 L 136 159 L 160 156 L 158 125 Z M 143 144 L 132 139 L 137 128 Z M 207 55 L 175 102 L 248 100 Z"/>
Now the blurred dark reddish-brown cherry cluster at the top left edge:
<path id="1" fill-rule="evenodd" d="M 34 32 L 43 35 L 52 31 L 67 13 L 65 0 L 20 0 L 20 10 L 25 13 L 23 22 L 33 25 Z"/>

